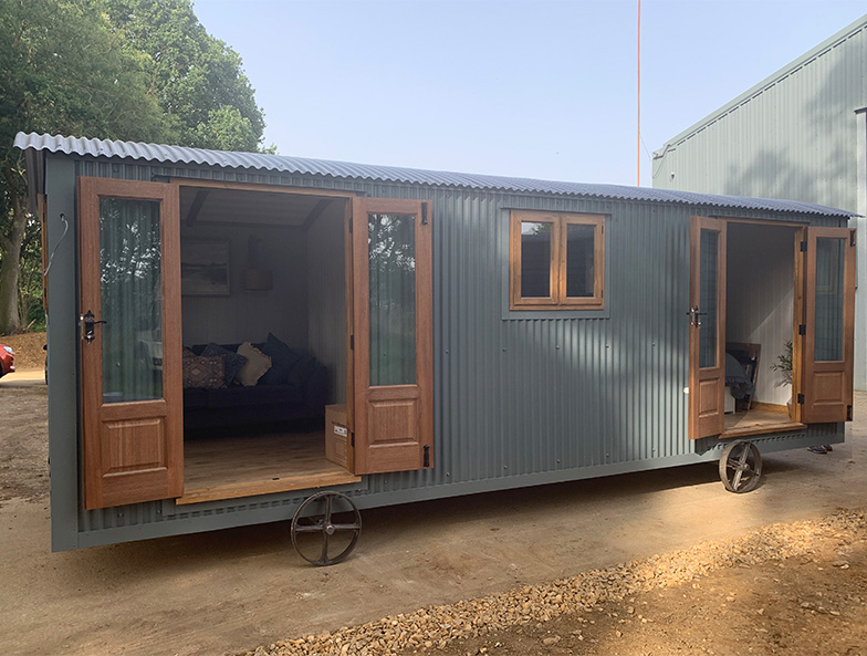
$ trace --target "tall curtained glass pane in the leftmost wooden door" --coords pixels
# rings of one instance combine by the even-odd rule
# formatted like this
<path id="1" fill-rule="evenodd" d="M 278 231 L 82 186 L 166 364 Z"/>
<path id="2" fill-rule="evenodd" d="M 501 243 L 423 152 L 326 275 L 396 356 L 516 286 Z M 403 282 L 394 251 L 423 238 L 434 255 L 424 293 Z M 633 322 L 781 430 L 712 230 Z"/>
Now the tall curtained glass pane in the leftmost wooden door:
<path id="1" fill-rule="evenodd" d="M 159 202 L 100 199 L 103 402 L 163 398 Z"/>

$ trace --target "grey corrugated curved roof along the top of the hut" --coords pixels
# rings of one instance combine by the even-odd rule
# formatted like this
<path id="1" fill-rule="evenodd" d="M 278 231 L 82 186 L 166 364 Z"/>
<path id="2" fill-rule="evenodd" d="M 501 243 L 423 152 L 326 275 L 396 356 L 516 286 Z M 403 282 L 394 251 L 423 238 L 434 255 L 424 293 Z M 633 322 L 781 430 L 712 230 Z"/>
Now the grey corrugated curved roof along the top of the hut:
<path id="1" fill-rule="evenodd" d="M 223 150 L 207 150 L 205 148 L 186 148 L 181 146 L 65 137 L 60 135 L 40 135 L 35 133 L 18 133 L 18 135 L 15 135 L 14 145 L 22 150 L 32 148 L 34 150 L 65 153 L 67 155 L 121 157 L 126 159 L 166 162 L 173 164 L 198 164 L 231 169 L 272 170 L 288 174 L 320 175 L 334 178 L 383 183 L 489 189 L 523 194 L 556 194 L 615 200 L 681 202 L 709 207 L 801 212 L 836 217 L 855 216 L 848 211 L 795 200 L 714 196 L 710 194 L 693 194 L 689 191 L 652 189 L 648 187 L 628 187 L 625 185 L 557 183 L 531 178 L 510 178 L 401 168 L 396 166 L 376 166 L 353 164 L 348 162 L 332 162 L 327 159 L 310 159 L 306 157 L 264 155 L 262 153 L 230 153 Z"/>

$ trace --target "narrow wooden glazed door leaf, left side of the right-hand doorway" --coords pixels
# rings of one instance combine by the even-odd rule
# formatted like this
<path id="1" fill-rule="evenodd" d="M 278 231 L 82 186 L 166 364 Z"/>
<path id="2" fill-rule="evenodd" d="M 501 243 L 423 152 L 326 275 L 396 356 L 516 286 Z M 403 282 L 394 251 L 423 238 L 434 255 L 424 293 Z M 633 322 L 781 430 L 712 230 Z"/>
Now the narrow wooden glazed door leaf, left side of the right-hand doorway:
<path id="1" fill-rule="evenodd" d="M 719 435 L 725 404 L 725 221 L 692 217 L 689 437 Z"/>

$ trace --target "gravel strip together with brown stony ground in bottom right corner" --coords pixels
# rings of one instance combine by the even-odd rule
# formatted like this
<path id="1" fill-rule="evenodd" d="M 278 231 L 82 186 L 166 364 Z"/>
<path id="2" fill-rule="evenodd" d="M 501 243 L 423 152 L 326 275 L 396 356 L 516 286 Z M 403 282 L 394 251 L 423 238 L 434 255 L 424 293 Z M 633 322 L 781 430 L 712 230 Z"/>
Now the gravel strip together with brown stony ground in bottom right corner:
<path id="1" fill-rule="evenodd" d="M 818 555 L 817 555 L 818 554 Z M 824 555 L 823 555 L 824 554 Z M 817 570 L 818 581 L 829 581 L 831 574 L 842 579 L 840 584 L 828 583 L 824 597 L 821 584 L 809 579 L 808 574 L 817 574 L 816 566 L 809 573 L 801 574 L 802 584 L 808 582 L 811 590 L 797 590 L 788 605 L 795 604 L 800 613 L 791 614 L 787 627 L 777 631 L 773 639 L 767 642 L 766 649 L 753 649 L 759 643 L 748 641 L 749 647 L 742 650 L 735 648 L 735 638 L 731 635 L 729 623 L 720 631 L 719 644 L 713 645 L 717 653 L 792 653 L 792 654 L 864 654 L 867 649 L 867 577 L 864 573 L 864 556 L 867 556 L 867 512 L 845 511 L 815 521 L 804 521 L 792 524 L 774 524 L 746 535 L 722 541 L 700 543 L 689 550 L 677 551 L 665 555 L 655 555 L 647 560 L 633 561 L 605 570 L 594 570 L 577 576 L 555 581 L 544 585 L 523 586 L 503 594 L 493 594 L 481 598 L 462 601 L 452 605 L 431 606 L 421 608 L 410 614 L 384 617 L 361 626 L 343 627 L 337 632 L 321 633 L 295 639 L 281 641 L 270 646 L 260 646 L 246 656 L 295 656 L 311 654 L 358 654 L 375 656 L 379 654 L 409 654 L 425 653 L 440 654 L 521 654 L 532 650 L 539 654 L 573 654 L 573 653 L 713 653 L 713 637 L 702 638 L 709 641 L 703 645 L 685 644 L 685 648 L 676 648 L 672 633 L 680 634 L 680 642 L 689 632 L 689 618 L 701 615 L 702 608 L 697 598 L 688 600 L 681 611 L 686 615 L 686 627 L 675 626 L 660 628 L 666 635 L 662 638 L 644 638 L 631 647 L 621 643 L 618 648 L 599 648 L 597 637 L 587 639 L 585 634 L 594 635 L 597 613 L 608 619 L 613 637 L 623 637 L 623 626 L 630 621 L 636 621 L 638 626 L 646 629 L 648 623 L 654 622 L 649 615 L 645 616 L 636 607 L 647 607 L 648 593 L 662 590 L 683 587 L 690 591 L 692 597 L 698 597 L 702 589 L 702 581 L 712 580 L 714 575 L 725 573 L 725 570 L 737 569 L 738 575 L 743 575 L 741 570 L 750 572 L 752 581 L 759 581 L 761 566 L 780 568 L 773 573 L 796 570 L 797 562 L 819 563 Z M 785 565 L 785 566 L 784 566 Z M 824 565 L 824 566 L 823 566 Z M 857 568 L 856 568 L 857 565 Z M 854 569 L 849 571 L 850 566 Z M 765 579 L 767 576 L 765 575 Z M 781 583 L 781 579 L 767 579 L 772 592 L 779 596 L 790 582 Z M 773 583 L 776 582 L 776 583 Z M 692 583 L 691 587 L 686 584 Z M 731 585 L 732 577 L 728 584 Z M 723 582 L 722 585 L 727 583 Z M 707 586 L 707 585 L 706 585 Z M 795 585 L 796 587 L 797 584 Z M 817 587 L 819 586 L 819 587 Z M 855 586 L 860 594 L 842 591 L 842 587 Z M 804 585 L 801 585 L 804 587 Z M 694 593 L 694 594 L 692 594 Z M 737 601 L 738 592 L 720 593 L 711 589 L 706 594 L 711 594 L 714 606 L 711 615 L 719 615 L 729 605 Z M 834 596 L 836 594 L 836 596 Z M 644 595 L 644 596 L 643 596 Z M 817 596 L 816 596 L 817 595 Z M 660 598 L 662 594 L 658 595 Z M 680 600 L 680 594 L 675 594 Z M 804 601 L 801 601 L 804 600 Z M 651 602 L 652 603 L 652 602 Z M 769 602 L 770 604 L 771 602 Z M 644 606 L 639 605 L 644 604 Z M 759 604 L 756 607 L 744 608 L 750 614 L 748 638 L 761 636 L 764 619 L 764 607 L 769 604 Z M 800 605 L 798 605 L 800 604 Z M 825 604 L 825 605 L 823 605 Z M 761 607 L 758 607 L 761 605 Z M 666 604 L 669 612 L 670 603 Z M 853 610 L 848 610 L 853 606 Z M 842 610 L 846 619 L 840 619 Z M 645 611 L 647 613 L 647 611 Z M 777 613 L 784 615 L 784 612 Z M 818 643 L 812 646 L 803 639 L 793 643 L 792 636 L 784 637 L 786 633 L 794 633 L 806 619 L 801 616 L 809 615 Z M 591 617 L 588 619 L 587 617 Z M 669 614 L 668 624 L 672 624 L 673 614 Z M 568 621 L 564 625 L 564 619 Z M 708 618 L 710 621 L 710 617 Z M 831 626 L 818 625 L 822 622 L 837 623 Z M 839 623 L 857 631 L 848 634 L 835 634 L 842 628 Z M 675 619 L 675 624 L 678 619 Z M 551 627 L 555 626 L 556 631 Z M 613 628 L 620 626 L 620 628 Z M 546 628 L 547 627 L 547 628 Z M 577 627 L 577 628 L 573 628 Z M 707 627 L 706 627 L 707 628 Z M 571 629 L 571 631 L 566 631 Z M 589 631 L 588 631 L 589 629 Z M 831 635 L 828 634 L 831 629 Z M 758 632 L 758 633 L 753 633 Z M 598 632 L 596 632 L 598 634 Z M 712 634 L 712 632 L 711 632 Z M 729 635 L 725 635 L 729 634 Z M 824 637 L 823 637 L 823 634 Z M 566 635 L 570 639 L 564 639 Z M 702 634 L 703 635 L 703 634 Z M 530 642 L 527 643 L 524 638 Z M 834 644 L 834 638 L 842 638 L 844 646 Z M 788 646 L 794 650 L 786 652 Z M 854 644 L 850 644 L 854 643 Z M 728 645 L 728 648 L 727 646 Z M 834 645 L 834 648 L 832 648 Z M 510 648 L 511 646 L 511 648 Z M 581 648 L 586 646 L 586 649 Z M 659 652 L 659 648 L 662 652 Z M 839 647 L 839 648 L 838 648 Z M 803 649 L 803 650 L 802 650 Z"/>

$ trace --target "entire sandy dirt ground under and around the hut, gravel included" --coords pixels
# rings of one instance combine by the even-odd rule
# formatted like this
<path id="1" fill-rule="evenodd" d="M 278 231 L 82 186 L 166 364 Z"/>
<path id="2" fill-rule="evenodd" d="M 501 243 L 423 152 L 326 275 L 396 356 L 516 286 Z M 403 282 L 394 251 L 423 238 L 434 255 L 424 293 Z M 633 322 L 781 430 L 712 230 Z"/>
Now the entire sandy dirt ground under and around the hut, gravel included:
<path id="1" fill-rule="evenodd" d="M 376 509 L 316 569 L 285 522 L 50 553 L 39 373 L 0 379 L 2 654 L 867 655 L 867 394 L 749 494 L 709 464 Z"/>

